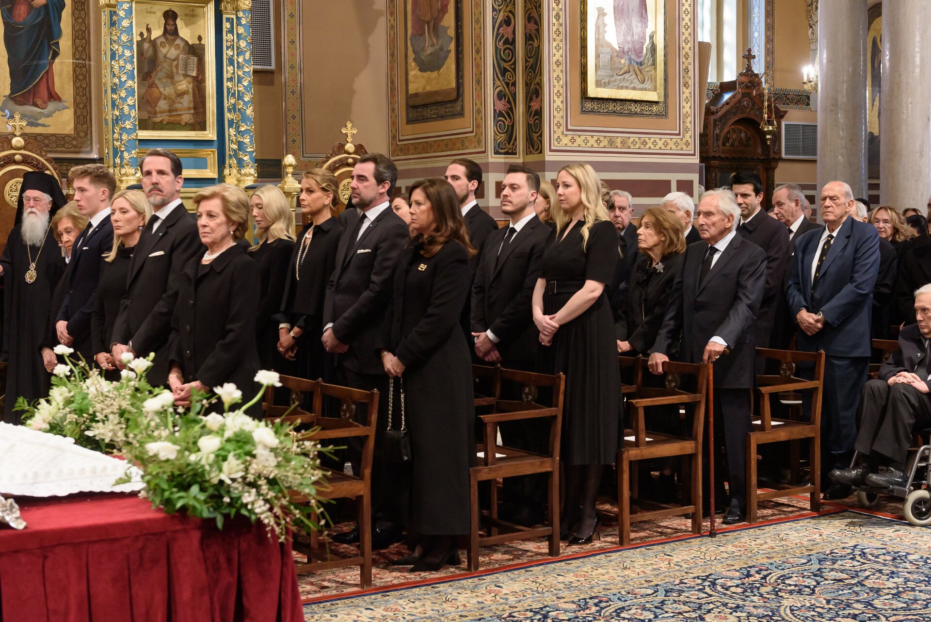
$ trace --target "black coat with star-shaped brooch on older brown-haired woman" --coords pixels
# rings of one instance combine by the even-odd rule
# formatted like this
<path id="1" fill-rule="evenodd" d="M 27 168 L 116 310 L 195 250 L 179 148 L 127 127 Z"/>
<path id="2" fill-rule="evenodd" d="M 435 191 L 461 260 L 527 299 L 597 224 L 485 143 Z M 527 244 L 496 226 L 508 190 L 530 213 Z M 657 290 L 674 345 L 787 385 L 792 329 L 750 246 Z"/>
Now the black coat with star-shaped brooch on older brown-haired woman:
<path id="1" fill-rule="evenodd" d="M 682 267 L 685 255 L 666 255 L 660 261 L 663 271 L 650 267 L 650 258 L 639 255 L 630 273 L 627 301 L 616 318 L 617 339 L 629 342 L 631 355 L 648 355 L 656 334 L 666 318 L 666 307 L 672 285 Z"/>

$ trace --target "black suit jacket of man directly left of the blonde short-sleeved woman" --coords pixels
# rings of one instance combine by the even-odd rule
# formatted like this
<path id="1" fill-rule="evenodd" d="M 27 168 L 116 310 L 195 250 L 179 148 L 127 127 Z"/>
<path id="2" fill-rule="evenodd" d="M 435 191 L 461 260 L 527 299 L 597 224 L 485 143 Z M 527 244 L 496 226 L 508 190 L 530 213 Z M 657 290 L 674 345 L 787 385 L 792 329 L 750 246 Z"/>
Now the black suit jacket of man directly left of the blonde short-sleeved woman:
<path id="1" fill-rule="evenodd" d="M 492 232 L 472 284 L 472 332 L 491 330 L 502 364 L 533 361 L 540 331 L 533 324 L 533 288 L 552 230 L 534 216 L 502 246 L 507 228 Z M 498 252 L 501 249 L 501 252 Z"/>

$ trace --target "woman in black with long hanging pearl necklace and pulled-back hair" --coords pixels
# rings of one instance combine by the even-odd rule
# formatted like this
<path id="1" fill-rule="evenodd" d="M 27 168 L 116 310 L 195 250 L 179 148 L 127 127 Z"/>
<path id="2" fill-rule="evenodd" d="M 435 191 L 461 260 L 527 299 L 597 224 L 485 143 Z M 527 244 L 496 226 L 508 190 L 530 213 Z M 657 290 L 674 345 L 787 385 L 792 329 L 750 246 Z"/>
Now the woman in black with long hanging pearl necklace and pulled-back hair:
<path id="1" fill-rule="evenodd" d="M 343 235 L 343 225 L 332 216 L 336 207 L 338 183 L 326 169 L 311 169 L 301 180 L 301 220 L 304 231 L 290 256 L 285 275 L 282 301 L 274 323 L 277 326 L 277 350 L 281 356 L 296 360 L 296 375 L 308 380 L 323 378 L 332 382 L 332 355 L 320 341 L 323 333 L 323 300 L 327 283 L 336 267 L 336 247 Z"/>

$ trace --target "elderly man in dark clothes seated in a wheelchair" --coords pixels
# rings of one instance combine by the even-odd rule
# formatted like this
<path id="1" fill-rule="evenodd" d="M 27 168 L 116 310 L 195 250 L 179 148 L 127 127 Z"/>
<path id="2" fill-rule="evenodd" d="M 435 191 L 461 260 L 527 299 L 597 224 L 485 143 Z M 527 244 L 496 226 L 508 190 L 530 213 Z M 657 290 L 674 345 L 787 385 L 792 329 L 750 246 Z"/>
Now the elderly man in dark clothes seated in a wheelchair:
<path id="1" fill-rule="evenodd" d="M 881 488 L 908 483 L 904 471 L 912 430 L 931 425 L 931 284 L 915 291 L 915 317 L 918 323 L 899 332 L 898 350 L 883 363 L 879 378 L 863 386 L 856 447 L 864 461 L 835 468 L 831 480 Z"/>

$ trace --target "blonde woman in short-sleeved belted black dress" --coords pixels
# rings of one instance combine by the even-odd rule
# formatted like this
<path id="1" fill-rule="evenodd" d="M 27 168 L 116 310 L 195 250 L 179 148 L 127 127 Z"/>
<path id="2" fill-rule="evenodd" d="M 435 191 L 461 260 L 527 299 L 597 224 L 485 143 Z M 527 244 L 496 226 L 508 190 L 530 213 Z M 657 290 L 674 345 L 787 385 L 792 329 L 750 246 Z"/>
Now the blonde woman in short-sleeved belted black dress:
<path id="1" fill-rule="evenodd" d="M 562 536 L 587 544 L 598 528 L 595 502 L 605 465 L 617 457 L 621 391 L 614 314 L 604 291 L 620 259 L 617 234 L 587 164 L 560 169 L 556 239 L 533 291 L 541 368 L 566 374 L 560 458 L 565 465 Z"/>

